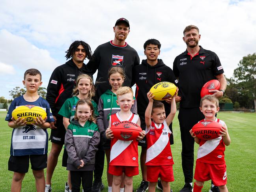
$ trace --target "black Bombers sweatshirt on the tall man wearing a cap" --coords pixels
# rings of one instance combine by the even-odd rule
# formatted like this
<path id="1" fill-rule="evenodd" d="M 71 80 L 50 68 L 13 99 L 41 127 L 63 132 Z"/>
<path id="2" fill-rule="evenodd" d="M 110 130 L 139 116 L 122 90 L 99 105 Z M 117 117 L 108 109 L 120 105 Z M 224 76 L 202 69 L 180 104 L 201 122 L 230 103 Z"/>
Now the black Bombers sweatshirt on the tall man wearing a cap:
<path id="1" fill-rule="evenodd" d="M 108 70 L 110 67 L 122 67 L 125 71 L 123 86 L 130 87 L 134 84 L 132 82 L 133 69 L 139 64 L 140 58 L 138 53 L 127 43 L 122 47 L 114 45 L 112 41 L 99 45 L 86 65 L 92 71 L 92 74 L 98 70 L 94 101 L 98 103 L 99 97 L 108 89 L 111 89 L 108 81 Z"/>

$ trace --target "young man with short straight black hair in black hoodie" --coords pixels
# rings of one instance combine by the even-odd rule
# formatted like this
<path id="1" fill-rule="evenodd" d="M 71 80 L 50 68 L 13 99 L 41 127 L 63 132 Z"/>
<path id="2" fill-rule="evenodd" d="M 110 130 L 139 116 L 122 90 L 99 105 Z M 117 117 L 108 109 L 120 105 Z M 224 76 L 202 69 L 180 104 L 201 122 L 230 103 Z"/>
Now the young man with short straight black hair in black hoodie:
<path id="1" fill-rule="evenodd" d="M 135 67 L 135 72 L 133 73 L 133 77 L 136 83 L 136 100 L 137 100 L 137 109 L 138 115 L 140 116 L 141 128 L 145 130 L 145 111 L 148 106 L 148 97 L 147 93 L 149 89 L 156 83 L 168 81 L 176 84 L 175 76 L 172 69 L 166 66 L 161 59 L 157 59 L 160 54 L 161 44 L 156 39 L 148 39 L 144 43 L 144 54 L 147 59 L 142 60 L 140 65 Z M 166 116 L 170 113 L 170 101 L 163 101 Z M 172 124 L 170 124 L 170 130 L 172 131 Z M 170 143 L 173 144 L 173 135 L 171 135 Z M 146 138 L 139 141 L 139 145 L 142 147 L 141 155 L 140 155 L 140 166 L 142 171 L 142 182 L 139 185 L 139 188 L 136 190 L 137 192 L 145 192 L 148 188 L 147 181 L 147 168 L 145 165 L 146 161 L 146 151 L 147 151 L 147 143 Z M 157 183 L 157 187 L 161 188 L 160 181 Z M 162 189 L 163 190 L 163 189 Z"/>

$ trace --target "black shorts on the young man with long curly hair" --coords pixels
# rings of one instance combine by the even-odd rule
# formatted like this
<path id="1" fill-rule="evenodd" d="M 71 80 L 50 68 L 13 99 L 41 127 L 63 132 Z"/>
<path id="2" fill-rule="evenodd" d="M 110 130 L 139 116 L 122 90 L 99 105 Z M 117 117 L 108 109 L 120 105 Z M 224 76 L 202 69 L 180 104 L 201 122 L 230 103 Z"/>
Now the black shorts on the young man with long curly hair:
<path id="1" fill-rule="evenodd" d="M 66 129 L 63 125 L 63 117 L 56 116 L 56 127 L 57 129 L 51 129 L 50 139 L 52 143 L 64 145 Z"/>

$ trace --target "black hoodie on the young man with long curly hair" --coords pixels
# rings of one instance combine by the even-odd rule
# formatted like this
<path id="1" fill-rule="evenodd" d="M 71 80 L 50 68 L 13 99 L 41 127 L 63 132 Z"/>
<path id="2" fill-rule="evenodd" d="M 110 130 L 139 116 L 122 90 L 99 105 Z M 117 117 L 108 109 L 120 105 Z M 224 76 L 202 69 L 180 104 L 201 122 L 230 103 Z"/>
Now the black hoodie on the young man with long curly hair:
<path id="1" fill-rule="evenodd" d="M 54 116 L 58 116 L 63 103 L 72 97 L 78 75 L 82 73 L 91 75 L 89 72 L 85 64 L 79 69 L 72 59 L 54 69 L 50 76 L 46 95 L 46 100 L 49 102 Z"/>

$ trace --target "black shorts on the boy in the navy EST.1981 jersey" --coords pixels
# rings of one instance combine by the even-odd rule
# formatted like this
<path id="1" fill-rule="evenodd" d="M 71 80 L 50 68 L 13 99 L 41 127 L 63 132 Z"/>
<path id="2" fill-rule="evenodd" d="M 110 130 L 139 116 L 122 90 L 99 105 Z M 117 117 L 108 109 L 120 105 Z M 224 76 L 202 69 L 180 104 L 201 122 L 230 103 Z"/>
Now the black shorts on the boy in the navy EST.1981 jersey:
<path id="1" fill-rule="evenodd" d="M 18 173 L 27 173 L 29 160 L 32 170 L 43 170 L 47 167 L 47 154 L 44 155 L 24 155 L 10 156 L 8 161 L 8 170 Z"/>

